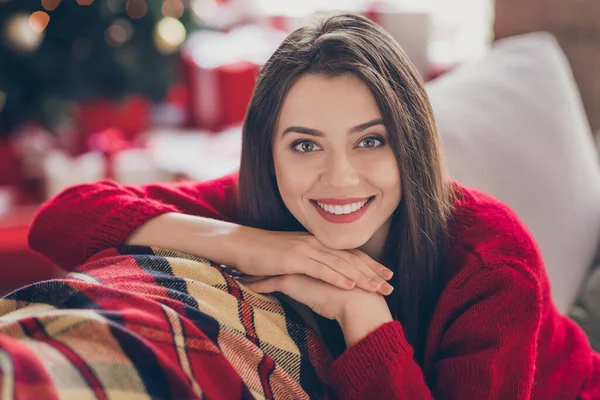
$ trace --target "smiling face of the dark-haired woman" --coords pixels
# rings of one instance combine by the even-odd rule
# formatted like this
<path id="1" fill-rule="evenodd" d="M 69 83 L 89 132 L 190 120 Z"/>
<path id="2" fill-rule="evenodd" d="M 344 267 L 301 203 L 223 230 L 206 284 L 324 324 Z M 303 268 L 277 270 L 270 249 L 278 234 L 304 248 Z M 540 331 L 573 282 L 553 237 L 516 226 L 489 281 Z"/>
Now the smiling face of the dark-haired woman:
<path id="1" fill-rule="evenodd" d="M 402 197 L 400 172 L 368 86 L 308 74 L 284 100 L 273 160 L 279 193 L 325 246 L 378 257 Z"/>

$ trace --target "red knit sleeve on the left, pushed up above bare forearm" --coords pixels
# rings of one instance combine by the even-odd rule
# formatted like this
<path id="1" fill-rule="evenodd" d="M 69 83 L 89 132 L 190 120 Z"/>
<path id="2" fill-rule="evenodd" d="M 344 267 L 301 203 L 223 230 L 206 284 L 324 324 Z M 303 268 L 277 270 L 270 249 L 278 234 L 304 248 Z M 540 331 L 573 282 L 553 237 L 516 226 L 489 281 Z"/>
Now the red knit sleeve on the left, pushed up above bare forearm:
<path id="1" fill-rule="evenodd" d="M 237 174 L 207 182 L 121 186 L 104 180 L 73 186 L 35 216 L 29 246 L 69 271 L 92 255 L 123 244 L 150 219 L 178 212 L 231 221 Z"/>

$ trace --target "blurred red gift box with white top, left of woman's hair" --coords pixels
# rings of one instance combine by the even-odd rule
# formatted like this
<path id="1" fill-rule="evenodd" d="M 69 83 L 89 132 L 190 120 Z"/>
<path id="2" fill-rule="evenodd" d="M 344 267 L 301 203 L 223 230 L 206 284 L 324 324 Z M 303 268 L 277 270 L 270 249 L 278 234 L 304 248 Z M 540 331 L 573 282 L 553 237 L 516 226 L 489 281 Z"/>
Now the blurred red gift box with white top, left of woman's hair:
<path id="1" fill-rule="evenodd" d="M 221 131 L 240 124 L 260 66 L 284 37 L 259 26 L 190 36 L 182 49 L 183 76 L 190 88 L 188 125 Z"/>

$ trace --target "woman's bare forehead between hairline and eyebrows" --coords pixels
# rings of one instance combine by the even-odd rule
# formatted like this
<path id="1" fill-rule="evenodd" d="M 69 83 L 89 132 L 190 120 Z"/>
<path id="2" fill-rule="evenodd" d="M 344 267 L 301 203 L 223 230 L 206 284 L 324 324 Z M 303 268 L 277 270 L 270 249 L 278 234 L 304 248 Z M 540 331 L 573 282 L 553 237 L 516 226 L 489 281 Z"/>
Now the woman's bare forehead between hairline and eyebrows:
<path id="1" fill-rule="evenodd" d="M 288 91 L 279 114 L 277 131 L 281 132 L 290 125 L 337 130 L 380 117 L 371 90 L 357 76 L 307 74 Z"/>

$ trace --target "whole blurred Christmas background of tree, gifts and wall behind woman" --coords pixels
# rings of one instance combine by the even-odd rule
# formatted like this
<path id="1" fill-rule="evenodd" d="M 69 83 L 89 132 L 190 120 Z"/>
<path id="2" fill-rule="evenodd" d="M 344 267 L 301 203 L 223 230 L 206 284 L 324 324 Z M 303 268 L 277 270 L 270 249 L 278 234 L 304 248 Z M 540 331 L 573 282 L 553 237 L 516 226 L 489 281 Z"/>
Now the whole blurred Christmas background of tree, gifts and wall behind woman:
<path id="1" fill-rule="evenodd" d="M 351 11 L 378 22 L 426 82 L 476 62 L 496 39 L 550 31 L 597 130 L 598 4 L 0 0 L 0 292 L 58 274 L 28 250 L 26 233 L 39 205 L 62 189 L 234 171 L 260 66 L 315 13 Z"/>

